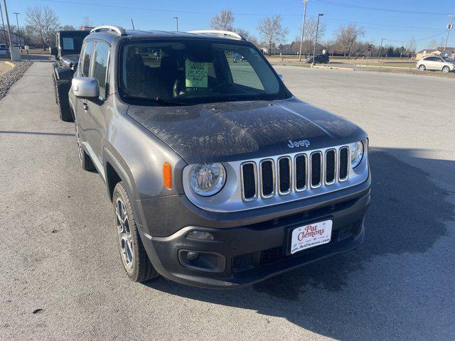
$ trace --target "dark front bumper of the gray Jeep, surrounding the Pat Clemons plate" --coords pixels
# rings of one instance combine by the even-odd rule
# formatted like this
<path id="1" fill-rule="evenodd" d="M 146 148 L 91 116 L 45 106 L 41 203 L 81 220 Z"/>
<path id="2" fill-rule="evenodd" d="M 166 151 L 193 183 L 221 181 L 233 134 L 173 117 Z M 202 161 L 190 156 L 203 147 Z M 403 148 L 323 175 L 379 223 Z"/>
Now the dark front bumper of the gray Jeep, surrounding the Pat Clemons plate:
<path id="1" fill-rule="evenodd" d="M 152 264 L 162 276 L 205 288 L 245 286 L 358 247 L 364 237 L 363 217 L 370 202 L 370 183 L 368 178 L 360 185 L 336 193 L 268 207 L 262 210 L 262 215 L 257 214 L 261 209 L 207 212 L 188 204 L 184 196 L 167 197 L 180 209 L 173 211 L 171 221 L 188 220 L 185 227 L 167 237 L 151 237 L 147 233 L 154 217 L 166 215 L 154 200 L 143 200 L 139 202 L 141 216 L 148 224 L 141 226 L 139 232 Z M 171 203 L 167 202 L 168 205 Z M 323 220 L 333 221 L 331 242 L 289 255 L 292 229 Z M 214 238 L 186 237 L 192 230 L 210 232 Z M 201 252 L 206 258 L 201 257 L 202 263 L 191 266 L 184 259 L 186 251 Z M 206 269 L 201 270 L 201 264 Z"/>

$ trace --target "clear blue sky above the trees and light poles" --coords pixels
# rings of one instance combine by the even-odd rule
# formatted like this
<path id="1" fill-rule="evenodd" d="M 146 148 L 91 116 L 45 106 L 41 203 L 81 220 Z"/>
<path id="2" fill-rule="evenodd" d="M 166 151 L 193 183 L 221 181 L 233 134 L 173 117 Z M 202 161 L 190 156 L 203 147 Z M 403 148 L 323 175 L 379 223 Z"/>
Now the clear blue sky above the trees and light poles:
<path id="1" fill-rule="evenodd" d="M 214 13 L 229 7 L 235 14 L 235 27 L 245 28 L 255 36 L 259 18 L 282 15 L 283 24 L 289 30 L 289 41 L 299 34 L 303 13 L 300 0 L 7 0 L 7 4 L 10 16 L 13 12 L 21 13 L 20 26 L 25 23 L 28 6 L 47 5 L 62 24 L 80 26 L 87 16 L 94 25 L 112 23 L 131 28 L 130 19 L 133 18 L 136 28 L 164 31 L 175 31 L 173 16 L 178 16 L 181 31 L 209 28 Z M 375 45 L 380 44 L 381 38 L 386 38 L 386 44 L 406 45 L 414 36 L 419 50 L 431 40 L 439 43 L 445 38 L 444 31 L 449 22 L 446 13 L 455 13 L 455 1 L 309 0 L 306 13 L 307 16 L 324 13 L 324 39 L 332 38 L 342 23 L 357 22 L 365 28 L 364 40 Z M 449 45 L 455 45 L 455 29 L 449 37 Z"/>

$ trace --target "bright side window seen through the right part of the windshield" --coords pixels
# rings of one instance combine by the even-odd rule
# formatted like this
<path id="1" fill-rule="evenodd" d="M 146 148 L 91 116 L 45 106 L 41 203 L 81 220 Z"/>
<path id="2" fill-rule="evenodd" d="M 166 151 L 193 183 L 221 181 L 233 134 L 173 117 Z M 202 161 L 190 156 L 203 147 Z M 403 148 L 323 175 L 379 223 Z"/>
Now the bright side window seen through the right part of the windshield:
<path id="1" fill-rule="evenodd" d="M 243 55 L 229 50 L 225 50 L 225 55 L 228 60 L 232 80 L 235 84 L 264 90 L 264 86 L 259 80 L 259 77 L 257 77 L 255 70 Z"/>

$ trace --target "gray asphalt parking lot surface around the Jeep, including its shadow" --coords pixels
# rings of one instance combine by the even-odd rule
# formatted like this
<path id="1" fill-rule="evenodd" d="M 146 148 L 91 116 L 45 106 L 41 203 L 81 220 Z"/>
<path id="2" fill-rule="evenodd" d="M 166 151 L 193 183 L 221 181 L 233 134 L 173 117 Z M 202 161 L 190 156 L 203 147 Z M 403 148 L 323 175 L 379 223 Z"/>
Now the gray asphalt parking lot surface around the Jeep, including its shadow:
<path id="1" fill-rule="evenodd" d="M 277 67 L 370 136 L 365 243 L 255 286 L 132 283 L 49 63 L 0 100 L 1 340 L 454 340 L 455 80 Z"/>

